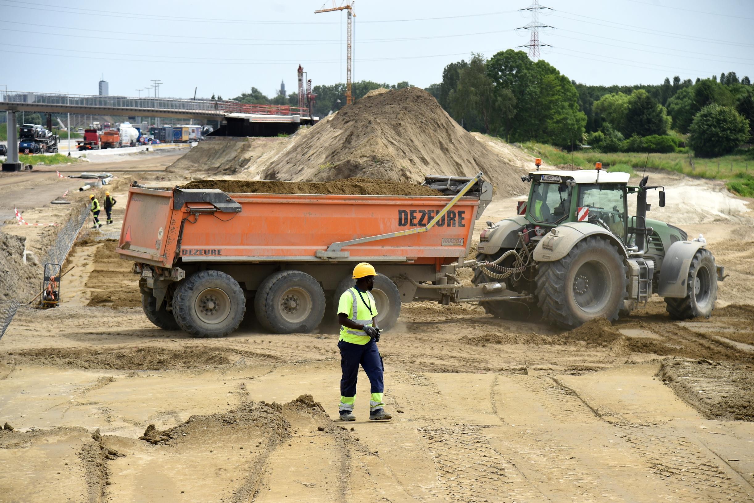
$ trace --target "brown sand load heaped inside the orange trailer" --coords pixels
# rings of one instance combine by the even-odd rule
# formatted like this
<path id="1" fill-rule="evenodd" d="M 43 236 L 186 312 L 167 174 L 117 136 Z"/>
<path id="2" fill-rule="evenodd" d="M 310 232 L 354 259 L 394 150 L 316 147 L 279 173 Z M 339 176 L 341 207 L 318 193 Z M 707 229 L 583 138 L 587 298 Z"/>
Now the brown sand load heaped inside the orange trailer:
<path id="1" fill-rule="evenodd" d="M 371 178 L 348 178 L 333 182 L 256 182 L 249 180 L 196 180 L 182 189 L 220 189 L 222 192 L 253 194 L 345 194 L 345 195 L 442 195 L 413 183 Z"/>

